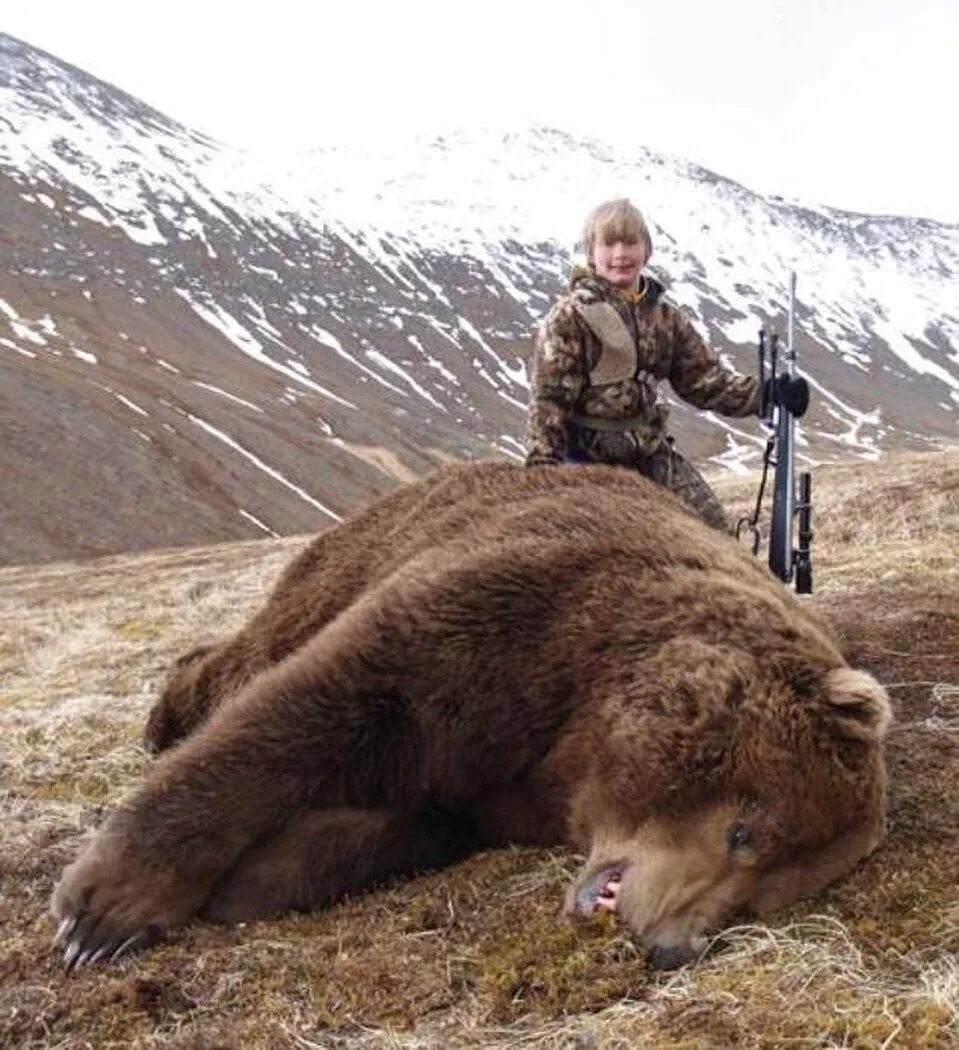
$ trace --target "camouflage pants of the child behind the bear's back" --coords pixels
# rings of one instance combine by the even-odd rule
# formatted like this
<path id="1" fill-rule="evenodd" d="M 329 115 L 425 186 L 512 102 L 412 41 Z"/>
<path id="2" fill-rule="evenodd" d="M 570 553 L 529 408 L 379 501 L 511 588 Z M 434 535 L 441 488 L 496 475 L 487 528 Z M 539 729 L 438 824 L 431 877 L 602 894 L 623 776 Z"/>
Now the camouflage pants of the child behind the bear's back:
<path id="1" fill-rule="evenodd" d="M 576 433 L 570 446 L 571 461 L 631 467 L 675 492 L 707 525 L 721 532 L 730 531 L 726 511 L 715 492 L 692 463 L 673 448 L 670 440 L 654 452 L 643 454 L 628 433 L 582 429 Z"/>

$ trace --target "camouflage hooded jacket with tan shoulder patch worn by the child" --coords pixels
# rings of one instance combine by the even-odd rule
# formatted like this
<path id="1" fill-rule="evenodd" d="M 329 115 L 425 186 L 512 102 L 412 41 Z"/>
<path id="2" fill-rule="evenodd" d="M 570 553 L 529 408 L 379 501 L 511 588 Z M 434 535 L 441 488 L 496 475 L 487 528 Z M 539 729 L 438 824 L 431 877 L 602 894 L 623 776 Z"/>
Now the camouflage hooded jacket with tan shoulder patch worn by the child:
<path id="1" fill-rule="evenodd" d="M 720 363 L 690 321 L 643 278 L 624 295 L 576 269 L 569 292 L 540 322 L 529 391 L 526 463 L 560 463 L 572 453 L 633 465 L 666 438 L 659 384 L 697 408 L 724 416 L 758 410 L 758 382 Z"/>

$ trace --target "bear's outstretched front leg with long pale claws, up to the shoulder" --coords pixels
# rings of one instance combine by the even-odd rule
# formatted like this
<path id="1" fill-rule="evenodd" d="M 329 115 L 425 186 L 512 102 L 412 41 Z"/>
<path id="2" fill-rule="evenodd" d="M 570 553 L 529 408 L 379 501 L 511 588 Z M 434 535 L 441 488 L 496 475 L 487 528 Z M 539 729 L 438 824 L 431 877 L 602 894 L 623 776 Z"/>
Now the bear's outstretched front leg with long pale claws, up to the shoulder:
<path id="1" fill-rule="evenodd" d="M 64 873 L 53 912 L 67 957 L 186 922 L 244 853 L 298 814 L 415 810 L 428 797 L 465 806 L 541 759 L 566 701 L 530 690 L 520 702 L 503 688 L 535 646 L 517 649 L 500 617 L 478 628 L 476 610 L 522 600 L 524 620 L 545 622 L 560 583 L 529 586 L 542 576 L 538 550 L 505 575 L 500 556 L 480 551 L 465 568 L 458 550 L 411 561 L 230 696 Z"/>

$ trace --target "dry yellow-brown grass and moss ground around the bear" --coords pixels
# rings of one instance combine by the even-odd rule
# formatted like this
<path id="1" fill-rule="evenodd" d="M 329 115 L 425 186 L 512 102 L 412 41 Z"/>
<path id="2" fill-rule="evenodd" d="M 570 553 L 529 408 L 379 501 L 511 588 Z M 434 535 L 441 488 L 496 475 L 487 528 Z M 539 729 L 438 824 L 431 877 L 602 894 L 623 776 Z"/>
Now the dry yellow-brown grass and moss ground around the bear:
<path id="1" fill-rule="evenodd" d="M 733 506 L 754 485 L 725 482 Z M 303 541 L 0 571 L 0 1045 L 947 1047 L 959 1044 L 959 454 L 816 471 L 811 600 L 896 704 L 890 834 L 850 878 L 695 966 L 557 922 L 577 860 L 474 857 L 311 916 L 194 923 L 64 976 L 46 901 L 133 789 L 157 681 L 238 624 Z"/>

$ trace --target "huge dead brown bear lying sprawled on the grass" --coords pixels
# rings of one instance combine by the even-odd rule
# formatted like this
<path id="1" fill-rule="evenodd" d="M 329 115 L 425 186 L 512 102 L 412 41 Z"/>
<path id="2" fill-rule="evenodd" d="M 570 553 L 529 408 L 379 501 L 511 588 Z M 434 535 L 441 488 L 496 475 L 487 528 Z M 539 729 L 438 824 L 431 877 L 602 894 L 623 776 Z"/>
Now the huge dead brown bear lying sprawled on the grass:
<path id="1" fill-rule="evenodd" d="M 67 966 L 504 843 L 589 856 L 653 961 L 878 843 L 881 687 L 728 538 L 614 468 L 486 463 L 321 534 L 186 657 L 180 740 L 53 898 Z"/>

